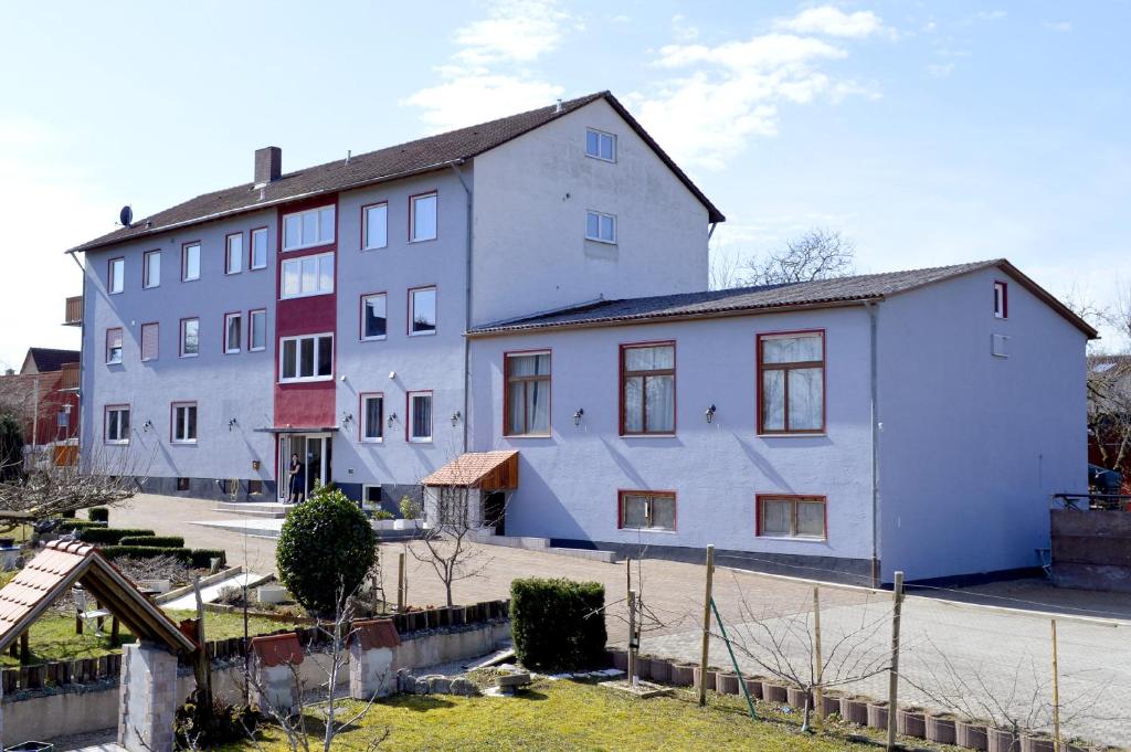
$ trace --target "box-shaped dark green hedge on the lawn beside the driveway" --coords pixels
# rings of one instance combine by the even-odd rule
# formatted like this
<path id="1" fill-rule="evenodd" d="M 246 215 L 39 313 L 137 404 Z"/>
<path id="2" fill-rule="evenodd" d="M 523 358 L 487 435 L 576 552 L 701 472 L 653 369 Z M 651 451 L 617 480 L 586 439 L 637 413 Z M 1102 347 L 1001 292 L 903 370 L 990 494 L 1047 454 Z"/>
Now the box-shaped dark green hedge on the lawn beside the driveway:
<path id="1" fill-rule="evenodd" d="M 510 584 L 515 655 L 527 668 L 572 671 L 605 657 L 605 586 L 527 578 Z"/>

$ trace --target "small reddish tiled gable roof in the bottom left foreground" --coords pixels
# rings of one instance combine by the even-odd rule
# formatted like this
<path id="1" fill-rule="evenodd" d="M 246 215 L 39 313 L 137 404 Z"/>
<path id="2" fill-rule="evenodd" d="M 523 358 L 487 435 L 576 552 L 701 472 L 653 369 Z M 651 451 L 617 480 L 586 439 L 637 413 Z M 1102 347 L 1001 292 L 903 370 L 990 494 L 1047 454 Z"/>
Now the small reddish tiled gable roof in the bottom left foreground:
<path id="1" fill-rule="evenodd" d="M 196 642 L 97 548 L 85 543 L 52 541 L 0 589 L 0 651 L 76 582 L 139 639 L 163 643 L 173 651 L 197 649 Z"/>

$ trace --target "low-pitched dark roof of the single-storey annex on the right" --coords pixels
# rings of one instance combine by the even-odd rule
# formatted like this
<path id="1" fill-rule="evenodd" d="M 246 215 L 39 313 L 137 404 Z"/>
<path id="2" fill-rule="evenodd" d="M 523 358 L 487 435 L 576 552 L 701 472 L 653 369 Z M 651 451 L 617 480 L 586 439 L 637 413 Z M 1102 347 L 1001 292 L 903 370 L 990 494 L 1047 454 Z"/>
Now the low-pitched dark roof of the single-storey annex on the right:
<path id="1" fill-rule="evenodd" d="M 1088 322 L 1021 274 L 1020 270 L 1005 259 L 782 285 L 599 301 L 597 303 L 588 303 L 549 313 L 474 327 L 468 331 L 468 336 L 489 336 L 530 329 L 615 326 L 663 319 L 740 316 L 774 309 L 837 306 L 847 303 L 883 300 L 890 295 L 905 293 L 993 267 L 1001 268 L 1020 285 L 1083 331 L 1089 338 L 1097 336 L 1096 330 Z"/>

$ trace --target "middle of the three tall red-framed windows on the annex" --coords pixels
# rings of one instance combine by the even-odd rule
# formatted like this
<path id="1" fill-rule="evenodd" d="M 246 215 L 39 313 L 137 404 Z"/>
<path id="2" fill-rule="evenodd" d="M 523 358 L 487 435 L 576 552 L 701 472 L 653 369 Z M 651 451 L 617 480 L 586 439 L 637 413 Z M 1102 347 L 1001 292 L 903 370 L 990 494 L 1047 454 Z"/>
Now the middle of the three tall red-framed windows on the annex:
<path id="1" fill-rule="evenodd" d="M 675 433 L 675 343 L 621 345 L 621 435 Z"/>

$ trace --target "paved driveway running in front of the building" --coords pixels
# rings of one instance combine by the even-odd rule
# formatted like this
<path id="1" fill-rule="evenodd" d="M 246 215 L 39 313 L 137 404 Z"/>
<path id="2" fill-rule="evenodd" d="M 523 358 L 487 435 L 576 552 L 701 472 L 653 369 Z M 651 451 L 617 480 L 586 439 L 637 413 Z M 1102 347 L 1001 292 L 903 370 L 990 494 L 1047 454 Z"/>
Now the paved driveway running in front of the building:
<path id="1" fill-rule="evenodd" d="M 213 511 L 205 501 L 141 495 L 115 508 L 115 526 L 153 528 L 182 535 L 187 545 L 223 547 L 232 564 L 274 571 L 275 542 L 238 533 L 193 526 L 193 520 L 232 516 Z M 396 554 L 403 545 L 385 545 L 386 593 L 395 593 Z M 566 577 L 605 585 L 610 641 L 624 642 L 623 598 L 627 567 L 554 554 L 481 546 L 490 559 L 482 577 L 458 582 L 457 602 L 504 598 L 515 577 Z M 442 604 L 443 588 L 428 564 L 407 556 L 408 599 Z M 639 567 L 639 569 L 638 569 Z M 646 560 L 633 567 L 634 586 L 642 589 L 654 616 L 642 638 L 642 650 L 656 655 L 697 658 L 702 620 L 701 565 Z M 803 665 L 810 650 L 808 633 L 814 582 L 753 572 L 719 569 L 715 599 L 728 629 L 752 652 L 766 659 L 777 652 Z M 839 660 L 852 666 L 882 656 L 890 642 L 889 593 L 820 586 L 823 642 L 841 642 Z M 924 590 L 905 600 L 901 693 L 909 700 L 938 705 L 942 695 L 965 697 L 977 715 L 991 715 L 981 705 L 999 703 L 1015 716 L 1047 703 L 1051 666 L 1050 614 L 1059 614 L 1061 698 L 1067 729 L 1108 744 L 1131 745 L 1131 596 L 1056 590 L 1041 581 L 995 584 L 955 591 Z M 973 603 L 972 603 L 973 602 Z M 988 604 L 988 605 L 975 605 Z M 793 633 L 767 650 L 771 634 Z M 761 645 L 759 645 L 761 643 Z M 848 646 L 852 646 L 849 649 Z M 715 640 L 711 663 L 725 665 L 726 650 Z M 749 657 L 744 671 L 758 671 Z M 864 673 L 843 668 L 846 676 Z M 918 691 L 915 685 L 927 690 Z M 855 683 L 852 689 L 884 697 L 886 675 Z M 979 702 L 978 698 L 986 699 Z M 1034 699 L 1036 698 L 1036 699 Z"/>

